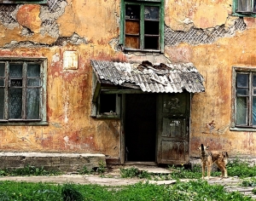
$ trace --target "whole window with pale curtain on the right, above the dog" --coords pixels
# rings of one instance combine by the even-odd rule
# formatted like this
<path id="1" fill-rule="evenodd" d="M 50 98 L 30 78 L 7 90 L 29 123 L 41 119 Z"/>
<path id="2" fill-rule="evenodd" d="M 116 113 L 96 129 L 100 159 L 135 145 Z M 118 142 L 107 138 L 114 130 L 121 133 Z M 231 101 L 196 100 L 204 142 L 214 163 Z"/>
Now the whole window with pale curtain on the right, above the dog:
<path id="1" fill-rule="evenodd" d="M 233 125 L 256 128 L 256 69 L 234 68 L 233 72 Z"/>

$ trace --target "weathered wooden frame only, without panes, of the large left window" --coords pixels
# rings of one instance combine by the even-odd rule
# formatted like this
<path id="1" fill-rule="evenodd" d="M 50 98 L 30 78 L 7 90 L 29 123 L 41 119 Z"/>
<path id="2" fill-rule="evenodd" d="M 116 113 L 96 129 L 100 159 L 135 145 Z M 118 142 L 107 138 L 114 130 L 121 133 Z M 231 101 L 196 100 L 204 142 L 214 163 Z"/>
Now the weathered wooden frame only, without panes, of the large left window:
<path id="1" fill-rule="evenodd" d="M 46 121 L 46 79 L 47 79 L 47 59 L 46 58 L 0 58 L 0 62 L 5 64 L 5 76 L 4 76 L 4 89 L 5 98 L 3 106 L 4 117 L 0 119 L 0 125 L 48 125 Z M 25 97 L 23 95 L 26 93 L 26 72 L 22 75 L 22 118 L 19 119 L 9 119 L 8 112 L 8 91 L 9 91 L 9 63 L 19 63 L 22 64 L 23 69 L 26 69 L 27 63 L 36 63 L 40 65 L 40 87 L 39 87 L 39 118 L 38 119 L 26 119 L 24 115 L 24 108 L 26 107 Z"/>

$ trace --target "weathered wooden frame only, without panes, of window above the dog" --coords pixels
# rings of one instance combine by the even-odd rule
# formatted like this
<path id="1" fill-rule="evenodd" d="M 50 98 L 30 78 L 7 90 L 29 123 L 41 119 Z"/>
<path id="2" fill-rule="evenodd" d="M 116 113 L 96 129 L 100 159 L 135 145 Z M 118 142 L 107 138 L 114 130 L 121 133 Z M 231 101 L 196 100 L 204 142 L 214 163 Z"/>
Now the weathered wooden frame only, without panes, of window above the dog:
<path id="1" fill-rule="evenodd" d="M 248 80 L 248 108 L 247 108 L 247 125 L 236 123 L 236 76 L 237 74 L 247 74 L 249 76 Z M 237 131 L 256 131 L 256 125 L 253 126 L 253 81 L 252 77 L 256 75 L 255 67 L 240 67 L 233 66 L 232 70 L 232 113 L 231 113 L 231 125 L 230 130 Z M 255 90 L 255 88 L 254 88 Z"/>

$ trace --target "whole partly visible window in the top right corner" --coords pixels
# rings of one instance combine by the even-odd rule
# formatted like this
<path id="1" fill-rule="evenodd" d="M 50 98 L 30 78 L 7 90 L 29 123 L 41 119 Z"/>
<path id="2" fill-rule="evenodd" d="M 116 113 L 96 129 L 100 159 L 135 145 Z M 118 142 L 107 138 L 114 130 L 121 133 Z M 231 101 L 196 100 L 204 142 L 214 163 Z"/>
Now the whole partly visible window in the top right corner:
<path id="1" fill-rule="evenodd" d="M 256 0 L 234 0 L 233 13 L 241 16 L 256 17 Z"/>

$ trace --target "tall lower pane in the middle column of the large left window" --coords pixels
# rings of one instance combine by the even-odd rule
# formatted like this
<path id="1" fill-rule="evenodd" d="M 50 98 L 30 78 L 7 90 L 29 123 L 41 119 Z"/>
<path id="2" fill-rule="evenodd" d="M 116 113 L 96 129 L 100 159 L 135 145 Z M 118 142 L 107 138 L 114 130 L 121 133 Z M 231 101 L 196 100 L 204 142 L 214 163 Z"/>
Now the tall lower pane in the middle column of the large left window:
<path id="1" fill-rule="evenodd" d="M 22 89 L 9 89 L 9 118 L 21 118 Z"/>

